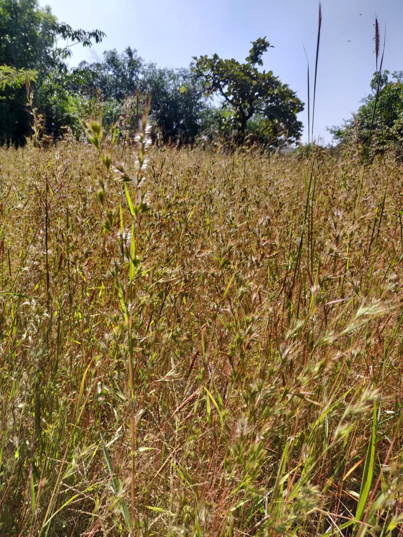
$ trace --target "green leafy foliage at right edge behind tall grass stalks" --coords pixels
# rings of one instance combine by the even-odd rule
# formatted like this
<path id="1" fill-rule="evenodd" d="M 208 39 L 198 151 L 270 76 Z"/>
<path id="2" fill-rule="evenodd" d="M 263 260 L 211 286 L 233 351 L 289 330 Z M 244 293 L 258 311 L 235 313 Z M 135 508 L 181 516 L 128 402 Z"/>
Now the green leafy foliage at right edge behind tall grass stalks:
<path id="1" fill-rule="evenodd" d="M 372 128 L 371 152 L 392 150 L 399 158 L 403 153 L 403 72 L 395 71 L 392 80 L 389 71 L 384 71 L 380 79 L 380 98 L 375 111 Z M 349 143 L 354 140 L 365 147 L 370 132 L 373 105 L 378 87 L 379 72 L 371 81 L 372 93 L 363 99 L 363 105 L 352 119 L 341 127 L 329 129 L 336 141 Z"/>

